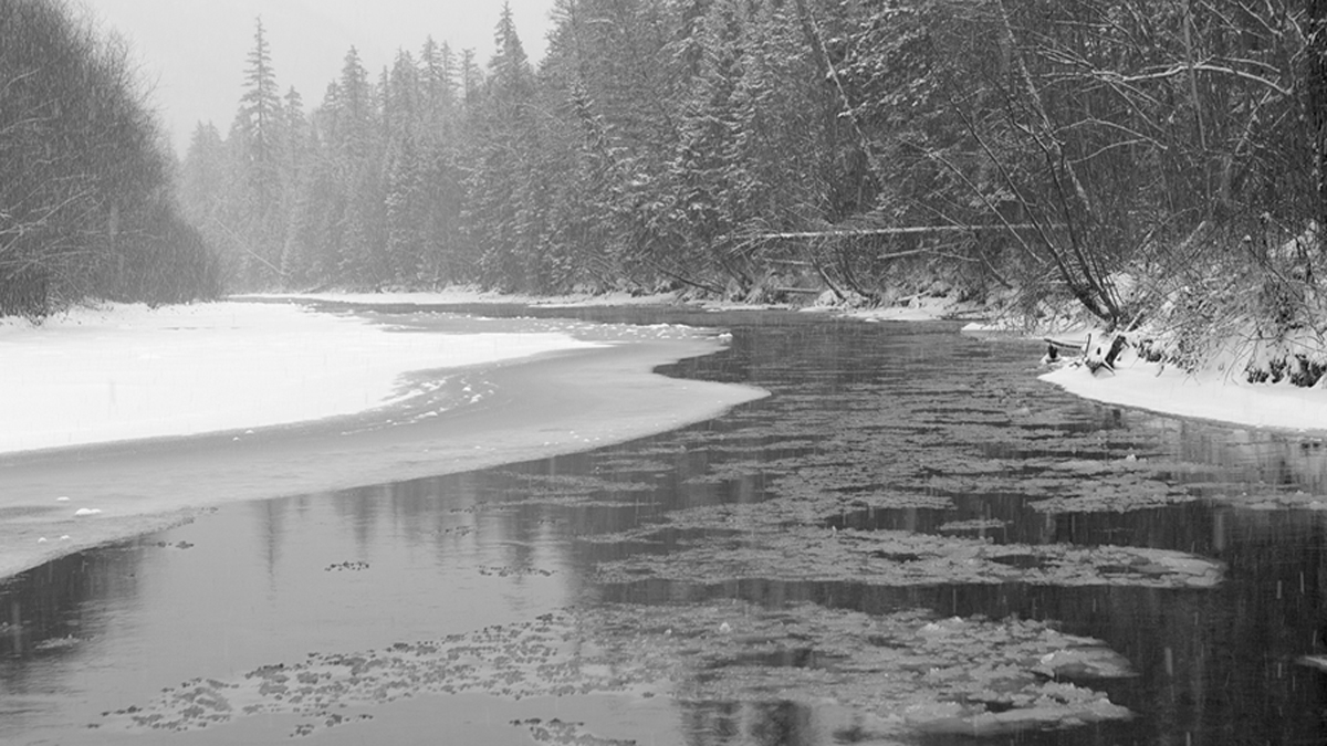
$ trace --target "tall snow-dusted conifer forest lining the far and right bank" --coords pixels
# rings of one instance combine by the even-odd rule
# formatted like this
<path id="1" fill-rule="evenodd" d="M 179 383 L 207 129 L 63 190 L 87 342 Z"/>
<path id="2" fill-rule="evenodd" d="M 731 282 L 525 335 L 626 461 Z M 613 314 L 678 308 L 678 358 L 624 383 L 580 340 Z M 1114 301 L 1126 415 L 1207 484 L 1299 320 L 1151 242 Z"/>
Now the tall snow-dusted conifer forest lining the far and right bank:
<path id="1" fill-rule="evenodd" d="M 926 263 L 1109 325 L 1217 280 L 1311 309 L 1324 19 L 1327 0 L 559 0 L 537 69 L 504 9 L 483 68 L 429 40 L 372 76 L 352 49 L 309 115 L 259 25 L 184 202 L 242 287 L 878 299 Z"/>

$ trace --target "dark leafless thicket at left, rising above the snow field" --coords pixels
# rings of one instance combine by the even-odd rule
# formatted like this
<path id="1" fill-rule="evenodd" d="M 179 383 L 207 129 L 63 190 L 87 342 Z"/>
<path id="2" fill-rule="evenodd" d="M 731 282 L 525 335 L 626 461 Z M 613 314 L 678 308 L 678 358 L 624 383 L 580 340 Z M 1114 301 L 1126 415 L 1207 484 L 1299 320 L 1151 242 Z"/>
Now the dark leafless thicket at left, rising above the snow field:
<path id="1" fill-rule="evenodd" d="M 0 0 L 0 316 L 220 291 L 126 49 L 57 0 Z"/>

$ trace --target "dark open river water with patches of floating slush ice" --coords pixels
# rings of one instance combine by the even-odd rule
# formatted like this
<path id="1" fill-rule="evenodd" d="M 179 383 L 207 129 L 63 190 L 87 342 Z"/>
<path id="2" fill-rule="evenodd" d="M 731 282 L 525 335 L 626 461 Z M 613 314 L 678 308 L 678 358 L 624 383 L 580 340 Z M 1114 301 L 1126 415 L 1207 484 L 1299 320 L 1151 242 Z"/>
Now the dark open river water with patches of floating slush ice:
<path id="1" fill-rule="evenodd" d="M 25 572 L 0 742 L 1327 742 L 1320 438 L 1085 402 L 957 324 L 482 312 L 723 327 L 664 372 L 772 396 Z"/>

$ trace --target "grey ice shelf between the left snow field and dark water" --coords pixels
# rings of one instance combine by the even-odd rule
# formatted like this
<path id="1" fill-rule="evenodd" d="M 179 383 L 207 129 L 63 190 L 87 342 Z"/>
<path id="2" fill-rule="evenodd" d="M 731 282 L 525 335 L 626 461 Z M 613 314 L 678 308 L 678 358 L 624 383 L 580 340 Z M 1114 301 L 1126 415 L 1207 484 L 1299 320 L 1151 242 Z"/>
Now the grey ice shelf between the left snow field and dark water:
<path id="1" fill-rule="evenodd" d="M 255 304 L 264 305 L 264 304 Z M 288 305 L 271 304 L 277 313 Z M 187 309 L 187 307 L 186 307 Z M 134 311 L 133 313 L 138 313 Z M 169 328 L 170 323 L 159 327 Z M 0 454 L 0 579 L 52 559 L 190 520 L 210 507 L 512 463 L 662 433 L 713 418 L 766 392 L 685 381 L 654 369 L 710 354 L 714 332 L 394 317 L 402 340 L 524 335 L 524 356 L 402 368 L 385 398 L 268 427 L 236 426 Z M 594 337 L 593 340 L 577 336 Z M 540 344 L 541 344 L 540 342 Z M 96 361 L 62 358 L 69 369 Z M 401 396 L 411 389 L 411 396 Z M 357 390 L 357 396 L 364 396 Z M 377 406 L 376 406 L 377 405 Z"/>

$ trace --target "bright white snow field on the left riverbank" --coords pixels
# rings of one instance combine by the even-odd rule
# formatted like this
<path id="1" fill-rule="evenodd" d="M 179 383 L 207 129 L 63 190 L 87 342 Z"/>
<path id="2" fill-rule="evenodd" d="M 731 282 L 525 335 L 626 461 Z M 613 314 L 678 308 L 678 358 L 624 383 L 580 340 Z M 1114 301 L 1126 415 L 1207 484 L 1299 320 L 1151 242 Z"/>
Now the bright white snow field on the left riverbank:
<path id="1" fill-rule="evenodd" d="M 0 323 L 0 453 L 362 411 L 410 370 L 597 346 L 563 333 L 421 335 L 295 305 L 77 309 Z"/>

